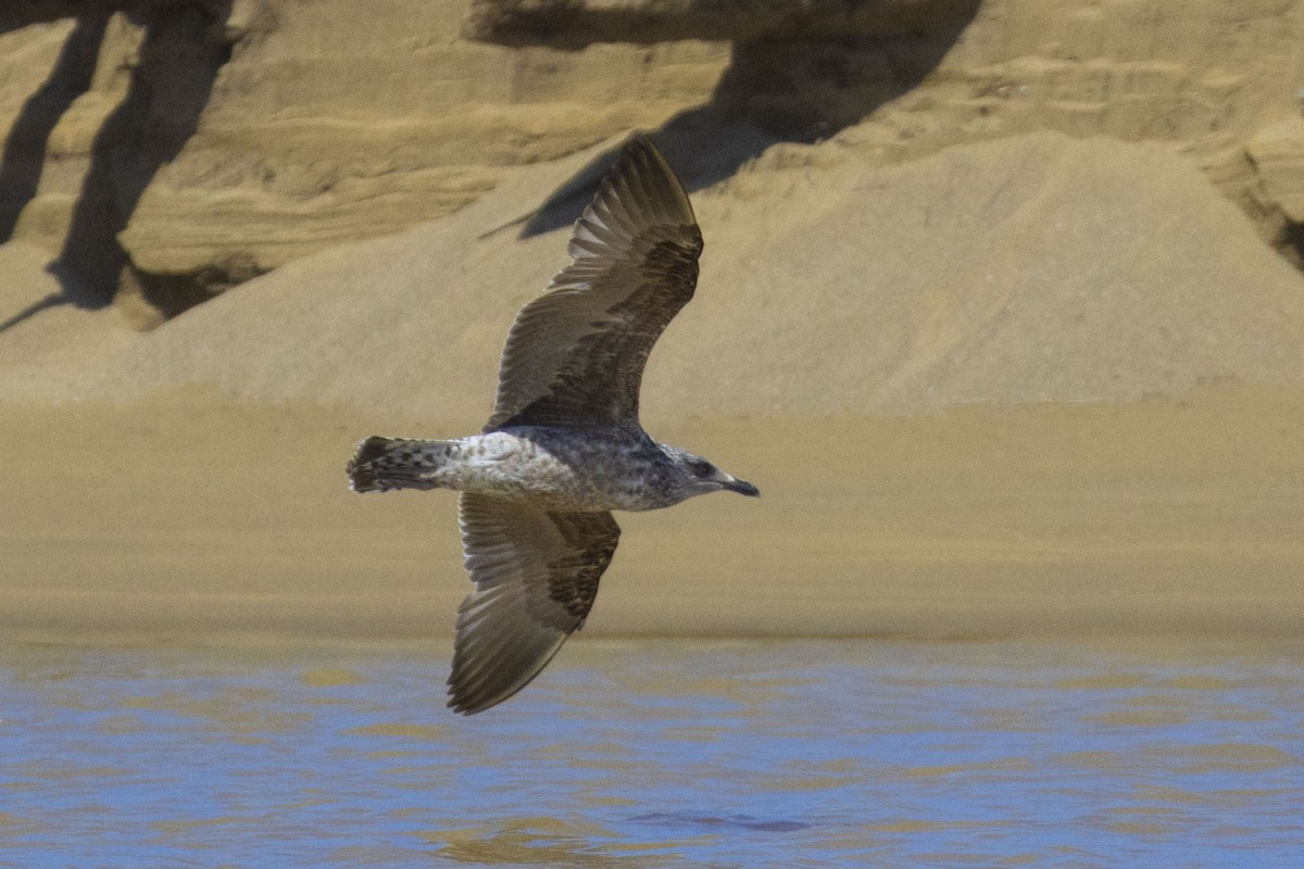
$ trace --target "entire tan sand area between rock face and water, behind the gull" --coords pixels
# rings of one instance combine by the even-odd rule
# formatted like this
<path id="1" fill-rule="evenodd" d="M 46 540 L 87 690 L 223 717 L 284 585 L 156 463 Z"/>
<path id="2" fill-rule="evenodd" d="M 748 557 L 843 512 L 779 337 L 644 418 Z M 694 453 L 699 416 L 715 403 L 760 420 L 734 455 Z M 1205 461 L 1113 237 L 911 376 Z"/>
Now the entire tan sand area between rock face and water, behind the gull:
<path id="1" fill-rule="evenodd" d="M 587 159 L 146 335 L 68 306 L 0 332 L 7 636 L 447 631 L 455 499 L 361 498 L 343 463 L 482 422 L 565 261 L 493 231 Z M 1038 134 L 875 169 L 835 141 L 695 205 L 644 416 L 765 496 L 625 517 L 589 633 L 1304 631 L 1304 285 L 1181 156 Z M 55 289 L 18 245 L 0 287 Z"/>

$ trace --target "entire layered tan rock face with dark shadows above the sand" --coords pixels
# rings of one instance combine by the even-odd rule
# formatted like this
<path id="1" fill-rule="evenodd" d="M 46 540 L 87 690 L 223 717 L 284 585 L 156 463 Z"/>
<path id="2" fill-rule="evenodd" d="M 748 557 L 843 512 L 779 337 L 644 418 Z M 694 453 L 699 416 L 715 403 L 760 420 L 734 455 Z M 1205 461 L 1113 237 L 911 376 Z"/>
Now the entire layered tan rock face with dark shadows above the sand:
<path id="1" fill-rule="evenodd" d="M 108 263 L 80 304 L 142 324 L 635 126 L 729 152 L 702 185 L 784 139 L 1163 139 L 1265 238 L 1299 225 L 1294 139 L 1260 130 L 1299 115 L 1300 0 L 3 5 L 0 241 Z"/>

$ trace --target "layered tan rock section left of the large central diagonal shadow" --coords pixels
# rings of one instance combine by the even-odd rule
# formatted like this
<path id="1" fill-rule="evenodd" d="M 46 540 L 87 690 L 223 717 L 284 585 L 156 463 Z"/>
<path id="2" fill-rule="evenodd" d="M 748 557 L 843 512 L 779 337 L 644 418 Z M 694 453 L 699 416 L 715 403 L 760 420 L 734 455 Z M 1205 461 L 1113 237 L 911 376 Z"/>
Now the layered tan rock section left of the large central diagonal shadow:
<path id="1" fill-rule="evenodd" d="M 125 288 L 133 310 L 150 300 L 172 314 L 316 250 L 445 216 L 522 164 L 656 126 L 708 100 L 729 59 L 704 42 L 473 43 L 464 0 L 359 9 L 240 0 L 189 44 L 138 12 L 0 33 L 0 231 L 7 214 L 12 231 L 0 241 L 57 255 L 81 215 L 100 231 L 73 246 L 107 263 L 82 270 L 96 287 L 82 301 Z M 213 50 L 222 63 L 168 65 Z M 159 133 L 188 126 L 184 149 L 142 164 L 142 145 L 158 154 Z M 119 249 L 125 263 L 104 253 Z"/>

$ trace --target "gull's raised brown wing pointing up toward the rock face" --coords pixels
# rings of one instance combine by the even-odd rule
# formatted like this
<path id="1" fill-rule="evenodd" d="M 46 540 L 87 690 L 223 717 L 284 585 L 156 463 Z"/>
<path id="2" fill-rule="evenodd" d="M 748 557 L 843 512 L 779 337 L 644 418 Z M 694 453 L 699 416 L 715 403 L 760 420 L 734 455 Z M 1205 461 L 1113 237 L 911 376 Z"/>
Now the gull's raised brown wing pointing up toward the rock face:
<path id="1" fill-rule="evenodd" d="M 520 309 L 486 431 L 638 425 L 648 353 L 698 283 L 702 233 L 665 158 L 635 134 L 575 223 L 571 264 Z"/>

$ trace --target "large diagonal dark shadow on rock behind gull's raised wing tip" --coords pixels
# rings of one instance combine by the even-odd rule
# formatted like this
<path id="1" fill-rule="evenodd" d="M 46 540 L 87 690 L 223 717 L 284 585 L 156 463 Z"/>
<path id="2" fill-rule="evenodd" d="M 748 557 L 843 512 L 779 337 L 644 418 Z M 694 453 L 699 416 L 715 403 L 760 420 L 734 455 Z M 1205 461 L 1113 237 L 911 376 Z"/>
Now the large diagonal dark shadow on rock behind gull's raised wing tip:
<path id="1" fill-rule="evenodd" d="M 828 138 L 915 87 L 979 5 L 947 4 L 927 30 L 734 42 L 711 102 L 681 112 L 652 137 L 690 193 L 711 186 L 775 143 Z M 520 237 L 572 224 L 614 159 L 610 149 L 558 188 L 524 219 Z"/>

